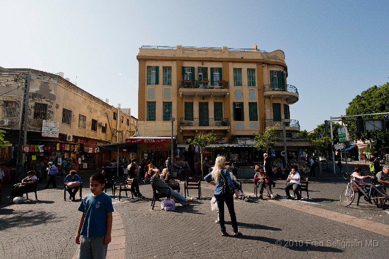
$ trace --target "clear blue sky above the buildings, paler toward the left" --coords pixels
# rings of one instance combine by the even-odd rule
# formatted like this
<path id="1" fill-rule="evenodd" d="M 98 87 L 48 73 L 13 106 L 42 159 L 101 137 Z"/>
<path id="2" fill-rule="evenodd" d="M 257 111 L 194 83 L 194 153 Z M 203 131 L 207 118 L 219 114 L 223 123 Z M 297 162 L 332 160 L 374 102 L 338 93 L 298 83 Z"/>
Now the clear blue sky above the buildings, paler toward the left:
<path id="1" fill-rule="evenodd" d="M 281 49 L 310 130 L 388 82 L 389 1 L 2 0 L 0 66 L 65 77 L 138 116 L 142 45 Z"/>

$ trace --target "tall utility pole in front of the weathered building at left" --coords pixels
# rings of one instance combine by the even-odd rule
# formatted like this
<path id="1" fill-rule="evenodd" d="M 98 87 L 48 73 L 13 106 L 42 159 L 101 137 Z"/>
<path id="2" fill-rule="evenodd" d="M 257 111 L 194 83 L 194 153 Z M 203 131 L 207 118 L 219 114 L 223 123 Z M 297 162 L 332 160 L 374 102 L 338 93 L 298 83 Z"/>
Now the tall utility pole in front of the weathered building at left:
<path id="1" fill-rule="evenodd" d="M 23 87 L 23 99 L 22 99 L 22 110 L 20 114 L 20 127 L 19 127 L 19 140 L 18 140 L 18 158 L 16 165 L 16 177 L 15 182 L 17 182 L 21 175 L 25 175 L 25 164 L 26 164 L 26 154 L 23 152 L 23 147 L 27 143 L 27 118 L 28 118 L 28 106 L 30 98 L 30 80 L 31 75 L 27 74 L 24 77 L 24 87 Z"/>

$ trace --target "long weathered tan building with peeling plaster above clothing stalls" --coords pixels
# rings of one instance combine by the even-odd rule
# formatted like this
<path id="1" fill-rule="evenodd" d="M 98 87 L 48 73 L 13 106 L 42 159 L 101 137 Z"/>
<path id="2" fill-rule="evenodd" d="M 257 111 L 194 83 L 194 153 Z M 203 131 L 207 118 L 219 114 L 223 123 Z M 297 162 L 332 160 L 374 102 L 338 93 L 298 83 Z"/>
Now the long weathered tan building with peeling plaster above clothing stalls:
<path id="1" fill-rule="evenodd" d="M 81 169 L 100 168 L 104 161 L 117 156 L 110 149 L 99 146 L 120 142 L 135 133 L 137 119 L 131 116 L 130 109 L 122 111 L 104 102 L 71 83 L 68 78 L 63 78 L 63 73 L 2 68 L 0 128 L 6 132 L 5 139 L 11 143 L 11 146 L 5 147 L 9 149 L 8 156 L 1 158 L 5 163 L 15 164 L 17 156 L 26 74 L 31 76 L 26 119 L 29 146 L 26 155 L 29 161 L 61 158 L 80 163 Z M 45 131 L 48 125 L 56 128 L 53 130 L 56 133 L 50 137 Z"/>

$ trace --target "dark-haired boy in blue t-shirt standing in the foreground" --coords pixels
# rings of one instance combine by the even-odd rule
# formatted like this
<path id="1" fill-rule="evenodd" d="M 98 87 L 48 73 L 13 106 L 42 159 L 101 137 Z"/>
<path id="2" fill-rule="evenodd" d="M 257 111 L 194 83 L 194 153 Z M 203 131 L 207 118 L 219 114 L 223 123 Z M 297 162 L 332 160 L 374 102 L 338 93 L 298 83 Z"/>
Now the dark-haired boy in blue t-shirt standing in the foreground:
<path id="1" fill-rule="evenodd" d="M 82 212 L 75 237 L 75 242 L 81 244 L 78 259 L 106 258 L 108 243 L 111 242 L 113 206 L 111 197 L 103 192 L 104 183 L 102 173 L 90 176 L 91 193 L 84 197 L 78 207 Z"/>

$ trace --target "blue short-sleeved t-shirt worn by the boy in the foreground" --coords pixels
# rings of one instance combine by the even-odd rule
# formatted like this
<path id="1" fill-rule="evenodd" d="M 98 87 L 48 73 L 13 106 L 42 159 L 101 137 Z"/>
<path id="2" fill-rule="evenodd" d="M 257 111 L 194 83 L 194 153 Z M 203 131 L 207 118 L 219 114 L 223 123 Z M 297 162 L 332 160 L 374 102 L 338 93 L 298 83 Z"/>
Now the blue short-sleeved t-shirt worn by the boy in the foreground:
<path id="1" fill-rule="evenodd" d="M 84 197 L 78 210 L 85 213 L 81 235 L 88 238 L 106 235 L 106 214 L 113 212 L 112 199 L 105 192 L 93 196 L 89 193 Z"/>

